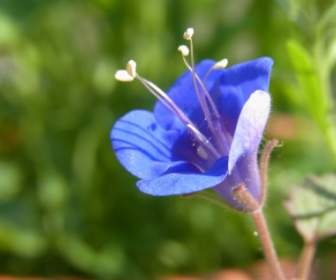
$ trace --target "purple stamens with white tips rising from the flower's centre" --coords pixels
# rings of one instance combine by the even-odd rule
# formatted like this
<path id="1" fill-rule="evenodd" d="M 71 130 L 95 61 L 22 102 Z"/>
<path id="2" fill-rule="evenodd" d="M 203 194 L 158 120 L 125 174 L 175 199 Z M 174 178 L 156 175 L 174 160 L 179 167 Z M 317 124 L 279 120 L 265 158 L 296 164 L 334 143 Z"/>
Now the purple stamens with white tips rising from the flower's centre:
<path id="1" fill-rule="evenodd" d="M 201 132 L 201 130 L 177 106 L 177 104 L 167 95 L 167 93 L 137 73 L 136 63 L 134 60 L 130 60 L 127 63 L 126 69 L 118 70 L 115 74 L 115 78 L 122 82 L 130 82 L 135 79 L 140 81 L 151 94 L 153 94 L 166 108 L 173 112 L 186 126 L 190 134 L 193 136 L 194 141 L 197 143 L 193 146 L 197 147 L 196 153 L 199 158 L 203 161 L 213 162 L 216 159 L 219 159 L 221 156 L 228 154 L 230 143 L 229 139 L 231 136 L 224 129 L 224 124 L 221 122 L 220 113 L 206 88 L 205 82 L 213 70 L 225 68 L 228 64 L 228 60 L 223 59 L 215 63 L 204 76 L 204 81 L 202 81 L 195 71 L 192 41 L 193 34 L 194 30 L 192 28 L 188 28 L 184 32 L 183 37 L 189 41 L 189 47 L 186 45 L 181 45 L 178 47 L 178 50 L 182 54 L 184 64 L 191 72 L 193 87 L 202 110 L 204 120 L 210 131 L 211 139 L 206 137 L 204 133 Z M 190 63 L 188 62 L 187 57 L 190 58 Z"/>

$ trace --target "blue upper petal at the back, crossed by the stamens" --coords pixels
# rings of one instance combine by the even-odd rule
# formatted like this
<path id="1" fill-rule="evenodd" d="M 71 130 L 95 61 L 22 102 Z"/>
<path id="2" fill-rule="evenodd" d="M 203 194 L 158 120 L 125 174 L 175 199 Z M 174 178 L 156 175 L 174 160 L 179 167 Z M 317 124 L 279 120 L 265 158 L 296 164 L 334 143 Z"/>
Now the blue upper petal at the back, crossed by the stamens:
<path id="1" fill-rule="evenodd" d="M 212 60 L 203 60 L 196 65 L 195 71 L 202 79 L 214 63 L 215 62 Z M 213 79 L 209 80 L 209 83 L 213 82 Z M 210 86 L 209 83 L 206 83 L 207 88 L 209 88 Z M 175 104 L 180 109 L 182 109 L 182 111 L 189 117 L 195 112 L 195 110 L 199 110 L 200 108 L 190 71 L 186 71 L 185 73 L 183 73 L 175 81 L 174 85 L 169 89 L 167 94 L 175 102 Z M 185 129 L 178 120 L 178 118 L 161 102 L 157 102 L 155 104 L 154 115 L 160 125 L 165 127 L 166 129 Z"/>

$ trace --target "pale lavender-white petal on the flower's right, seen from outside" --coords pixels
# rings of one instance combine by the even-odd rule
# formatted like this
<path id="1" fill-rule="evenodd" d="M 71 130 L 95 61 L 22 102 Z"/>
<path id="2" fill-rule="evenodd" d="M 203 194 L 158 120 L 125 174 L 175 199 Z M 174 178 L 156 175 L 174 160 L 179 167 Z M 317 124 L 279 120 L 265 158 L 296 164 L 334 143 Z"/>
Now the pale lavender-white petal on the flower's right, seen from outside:
<path id="1" fill-rule="evenodd" d="M 257 90 L 246 101 L 230 147 L 229 174 L 241 156 L 258 149 L 270 109 L 271 97 L 268 92 Z"/>

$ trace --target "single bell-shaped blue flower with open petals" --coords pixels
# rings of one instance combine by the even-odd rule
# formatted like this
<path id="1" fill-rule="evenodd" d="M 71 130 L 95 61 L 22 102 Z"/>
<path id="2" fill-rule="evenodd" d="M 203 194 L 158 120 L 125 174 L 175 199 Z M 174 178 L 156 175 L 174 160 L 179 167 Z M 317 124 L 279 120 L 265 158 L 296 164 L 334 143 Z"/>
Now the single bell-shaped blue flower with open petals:
<path id="1" fill-rule="evenodd" d="M 204 60 L 167 94 L 137 76 L 159 101 L 153 112 L 121 117 L 111 141 L 139 190 L 167 196 L 213 188 L 241 209 L 232 190 L 244 184 L 260 201 L 257 154 L 270 113 L 272 64 L 262 57 L 224 69 Z"/>

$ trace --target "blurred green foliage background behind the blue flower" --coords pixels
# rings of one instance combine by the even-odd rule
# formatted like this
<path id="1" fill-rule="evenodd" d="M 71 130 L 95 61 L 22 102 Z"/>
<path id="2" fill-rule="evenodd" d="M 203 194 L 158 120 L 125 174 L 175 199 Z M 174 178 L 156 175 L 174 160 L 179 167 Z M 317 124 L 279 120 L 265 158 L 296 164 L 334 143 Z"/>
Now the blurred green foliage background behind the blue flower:
<path id="1" fill-rule="evenodd" d="M 117 162 L 118 117 L 154 103 L 114 72 L 129 58 L 167 89 L 195 28 L 198 59 L 274 58 L 266 213 L 279 254 L 302 241 L 283 208 L 307 174 L 336 167 L 334 1 L 0 0 L 0 273 L 155 279 L 248 267 L 262 258 L 241 214 L 153 198 Z M 334 91 L 335 92 L 335 91 Z M 319 248 L 331 267 L 333 238 Z M 326 268 L 326 269 L 327 269 Z"/>

